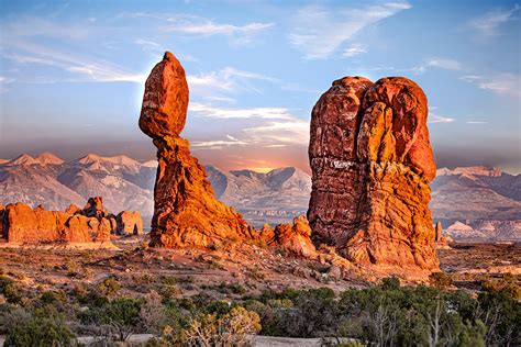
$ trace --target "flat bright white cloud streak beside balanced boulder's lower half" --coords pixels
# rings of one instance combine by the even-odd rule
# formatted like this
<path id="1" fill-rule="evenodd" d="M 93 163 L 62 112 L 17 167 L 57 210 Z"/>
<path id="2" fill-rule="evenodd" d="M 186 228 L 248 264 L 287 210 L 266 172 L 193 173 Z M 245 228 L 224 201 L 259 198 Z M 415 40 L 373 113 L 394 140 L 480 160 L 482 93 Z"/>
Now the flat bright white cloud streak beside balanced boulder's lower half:
<path id="1" fill-rule="evenodd" d="M 211 119 L 263 119 L 263 120 L 289 120 L 291 114 L 285 108 L 246 108 L 246 109 L 224 109 L 191 102 L 188 111 L 198 116 Z"/>

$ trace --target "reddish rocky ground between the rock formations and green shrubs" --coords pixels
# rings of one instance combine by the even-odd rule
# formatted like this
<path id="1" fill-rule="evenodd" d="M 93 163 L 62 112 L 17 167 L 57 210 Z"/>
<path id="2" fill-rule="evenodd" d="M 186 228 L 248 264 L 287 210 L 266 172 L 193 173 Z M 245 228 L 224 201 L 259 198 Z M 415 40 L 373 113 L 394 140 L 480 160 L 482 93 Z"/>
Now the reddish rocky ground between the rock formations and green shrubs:
<path id="1" fill-rule="evenodd" d="M 326 261 L 307 260 L 255 244 L 220 249 L 153 249 L 147 236 L 115 240 L 114 249 L 66 249 L 63 246 L 0 247 L 0 272 L 27 288 L 76 290 L 115 277 L 120 293 L 140 296 L 156 288 L 158 278 L 175 279 L 174 295 L 204 293 L 219 300 L 258 294 L 266 289 L 328 287 L 335 291 L 364 288 L 370 280 L 341 271 Z M 439 250 L 441 268 L 455 287 L 478 291 L 480 281 L 507 272 L 521 273 L 520 245 L 453 244 Z M 154 287 L 155 286 L 155 287 Z M 171 290 L 171 287 L 168 287 Z"/>

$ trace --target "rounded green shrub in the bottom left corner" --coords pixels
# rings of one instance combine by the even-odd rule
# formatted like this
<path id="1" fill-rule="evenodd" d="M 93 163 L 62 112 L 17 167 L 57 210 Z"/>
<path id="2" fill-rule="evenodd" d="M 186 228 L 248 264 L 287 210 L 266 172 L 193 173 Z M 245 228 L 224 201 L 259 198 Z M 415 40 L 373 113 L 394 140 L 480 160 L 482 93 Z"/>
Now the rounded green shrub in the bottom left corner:
<path id="1" fill-rule="evenodd" d="M 64 316 L 47 305 L 11 324 L 4 346 L 70 346 L 74 337 Z"/>

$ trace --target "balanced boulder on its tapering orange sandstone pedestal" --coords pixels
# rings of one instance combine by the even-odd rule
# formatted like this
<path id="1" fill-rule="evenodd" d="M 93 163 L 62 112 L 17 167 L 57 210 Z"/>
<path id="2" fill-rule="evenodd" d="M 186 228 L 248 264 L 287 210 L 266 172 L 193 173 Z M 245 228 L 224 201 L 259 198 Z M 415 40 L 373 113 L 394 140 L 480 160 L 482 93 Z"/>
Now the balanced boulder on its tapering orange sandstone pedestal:
<path id="1" fill-rule="evenodd" d="M 211 246 L 224 239 L 252 237 L 241 214 L 214 198 L 204 168 L 190 155 L 185 126 L 188 85 L 185 69 L 169 52 L 145 83 L 140 128 L 157 147 L 151 245 Z"/>

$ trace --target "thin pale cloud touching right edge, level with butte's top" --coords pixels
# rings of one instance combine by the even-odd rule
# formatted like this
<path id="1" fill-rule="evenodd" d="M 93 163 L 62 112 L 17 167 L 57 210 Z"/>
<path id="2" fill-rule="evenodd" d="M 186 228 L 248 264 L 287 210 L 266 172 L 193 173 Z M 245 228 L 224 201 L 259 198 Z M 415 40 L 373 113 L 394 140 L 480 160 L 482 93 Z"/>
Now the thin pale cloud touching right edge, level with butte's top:
<path id="1" fill-rule="evenodd" d="M 459 78 L 473 83 L 479 89 L 490 90 L 498 94 L 521 97 L 521 76 L 514 74 L 499 74 L 491 77 L 467 75 Z"/>

